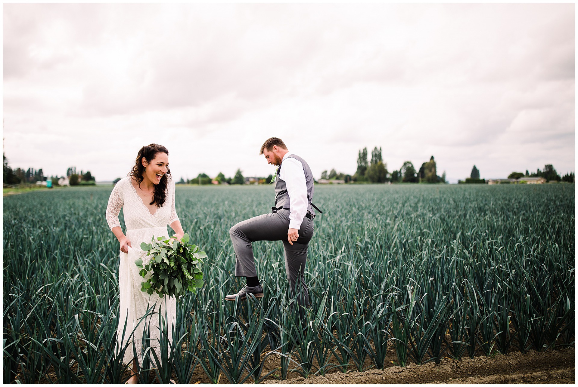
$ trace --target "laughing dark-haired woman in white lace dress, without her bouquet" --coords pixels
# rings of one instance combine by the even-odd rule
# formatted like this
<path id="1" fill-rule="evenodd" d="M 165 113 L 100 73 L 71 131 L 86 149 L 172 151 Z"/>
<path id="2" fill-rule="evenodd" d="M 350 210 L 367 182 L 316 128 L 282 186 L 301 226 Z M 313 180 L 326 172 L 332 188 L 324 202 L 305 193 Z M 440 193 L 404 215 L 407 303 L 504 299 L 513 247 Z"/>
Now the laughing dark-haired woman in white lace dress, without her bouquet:
<path id="1" fill-rule="evenodd" d="M 126 235 L 118 221 L 121 208 L 127 227 Z M 144 252 L 140 250 L 140 243 L 150 243 L 153 236 L 166 238 L 167 225 L 171 225 L 175 231 L 171 239 L 180 240 L 184 235 L 183 227 L 175 211 L 175 183 L 171 180 L 169 151 L 164 146 L 150 144 L 140 148 L 135 166 L 127 177 L 118 181 L 110 193 L 106 208 L 106 221 L 120 243 L 118 348 L 127 347 L 124 363 L 132 362 L 132 375 L 128 383 L 136 384 L 138 382 L 136 361 L 142 364 L 143 355 L 140 343 L 144 328 L 150 331 L 150 346 L 161 359 L 158 348 L 159 316 L 166 321 L 166 324 L 162 325 L 168 327 L 167 333 L 171 341 L 171 326 L 175 324 L 176 318 L 175 297 L 165 296 L 161 299 L 156 293 L 149 295 L 140 291 L 140 282 L 143 278 L 135 265 L 135 260 L 138 258 L 143 259 L 144 265 L 150 259 L 150 257 L 143 256 Z M 128 338 L 133 330 L 134 336 L 129 341 Z M 133 353 L 132 340 L 134 340 L 137 353 Z M 154 363 L 154 356 L 150 357 Z"/>

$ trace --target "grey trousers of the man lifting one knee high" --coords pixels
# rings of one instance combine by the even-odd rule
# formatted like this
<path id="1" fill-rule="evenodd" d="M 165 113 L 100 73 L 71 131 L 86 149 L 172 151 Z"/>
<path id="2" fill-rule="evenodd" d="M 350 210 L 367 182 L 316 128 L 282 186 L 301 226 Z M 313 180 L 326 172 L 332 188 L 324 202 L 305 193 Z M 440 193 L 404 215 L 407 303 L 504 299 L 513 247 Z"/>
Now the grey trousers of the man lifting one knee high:
<path id="1" fill-rule="evenodd" d="M 258 240 L 281 240 L 285 248 L 285 269 L 289 278 L 291 295 L 297 294 L 298 304 L 307 306 L 309 304 L 309 292 L 307 292 L 305 285 L 304 273 L 307 248 L 309 248 L 309 241 L 313 236 L 313 219 L 303 218 L 298 232 L 299 238 L 292 245 L 287 241 L 288 230 L 288 209 L 259 215 L 232 226 L 229 234 L 235 249 L 235 276 L 257 277 L 251 243 Z"/>

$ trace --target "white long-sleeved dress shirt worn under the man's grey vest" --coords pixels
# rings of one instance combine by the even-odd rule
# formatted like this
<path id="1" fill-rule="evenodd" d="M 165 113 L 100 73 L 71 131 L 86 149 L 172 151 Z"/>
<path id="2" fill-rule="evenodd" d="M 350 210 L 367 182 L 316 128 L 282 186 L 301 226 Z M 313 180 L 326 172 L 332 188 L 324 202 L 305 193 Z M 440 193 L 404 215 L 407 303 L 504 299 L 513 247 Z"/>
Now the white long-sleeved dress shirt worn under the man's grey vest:
<path id="1" fill-rule="evenodd" d="M 303 165 L 298 159 L 290 157 L 291 155 L 292 153 L 287 152 L 283 156 L 283 168 L 277 177 L 287 185 L 290 201 L 289 228 L 300 229 L 307 214 L 307 184 Z"/>

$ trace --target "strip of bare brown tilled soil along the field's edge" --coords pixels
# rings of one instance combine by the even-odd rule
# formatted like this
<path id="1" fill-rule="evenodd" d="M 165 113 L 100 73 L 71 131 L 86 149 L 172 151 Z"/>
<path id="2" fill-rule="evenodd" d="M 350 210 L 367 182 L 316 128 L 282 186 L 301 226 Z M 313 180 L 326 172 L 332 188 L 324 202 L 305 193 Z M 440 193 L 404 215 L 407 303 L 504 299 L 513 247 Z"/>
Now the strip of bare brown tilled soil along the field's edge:
<path id="1" fill-rule="evenodd" d="M 391 364 L 391 362 L 390 362 Z M 522 354 L 476 356 L 473 359 L 444 359 L 418 366 L 386 367 L 366 372 L 329 371 L 303 378 L 290 374 L 286 380 L 268 377 L 264 384 L 574 384 L 575 349 L 564 348 Z"/>

